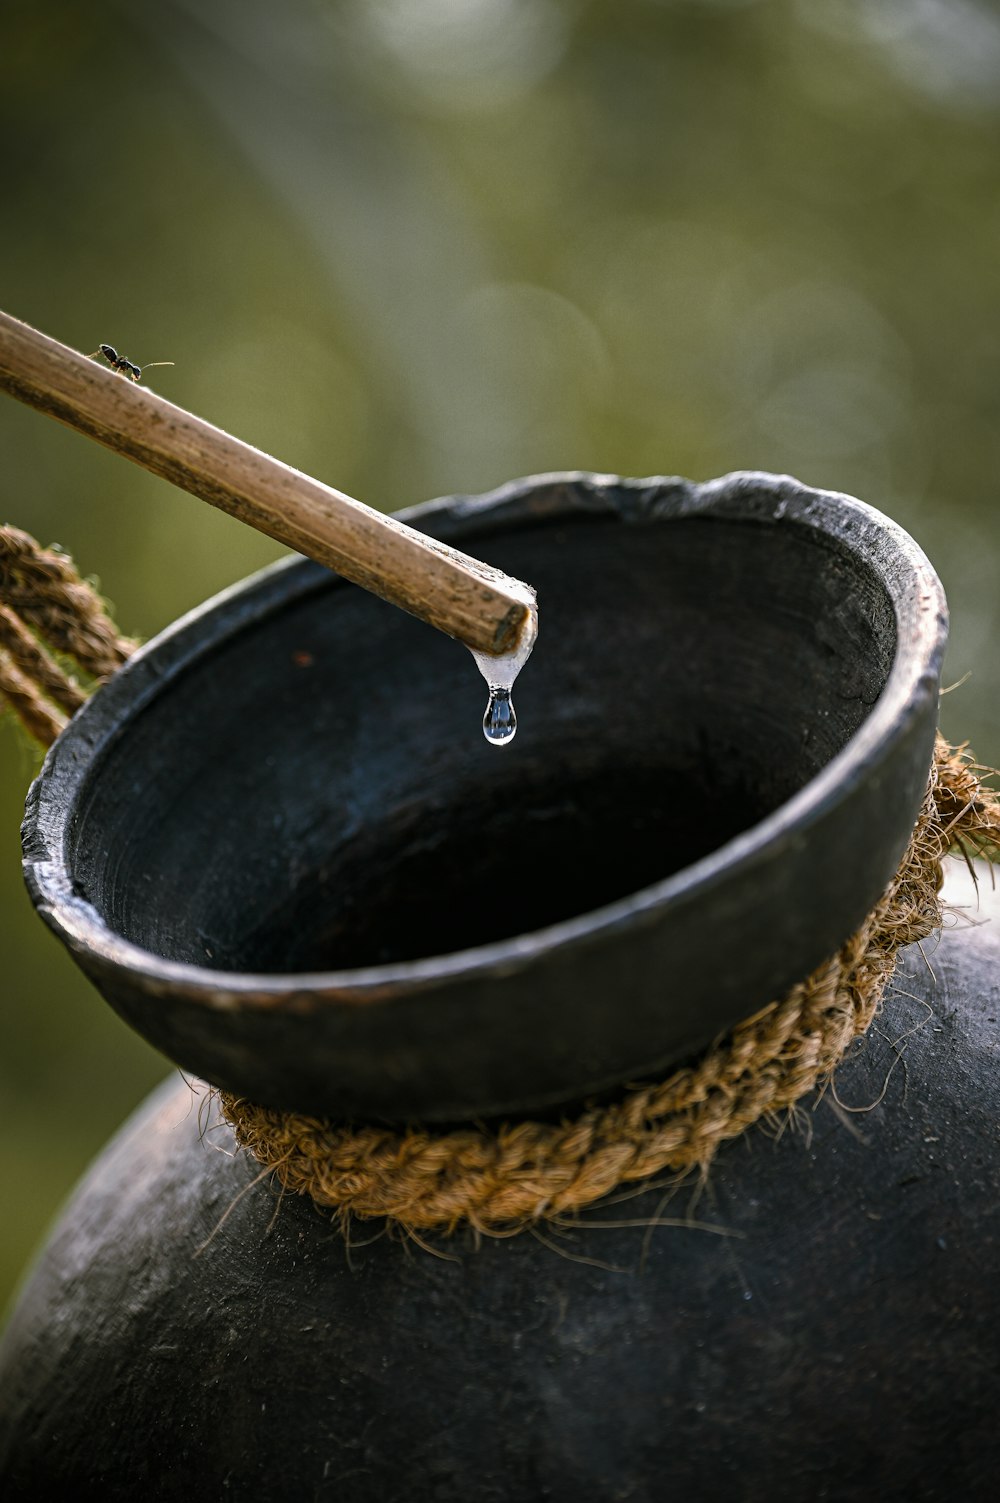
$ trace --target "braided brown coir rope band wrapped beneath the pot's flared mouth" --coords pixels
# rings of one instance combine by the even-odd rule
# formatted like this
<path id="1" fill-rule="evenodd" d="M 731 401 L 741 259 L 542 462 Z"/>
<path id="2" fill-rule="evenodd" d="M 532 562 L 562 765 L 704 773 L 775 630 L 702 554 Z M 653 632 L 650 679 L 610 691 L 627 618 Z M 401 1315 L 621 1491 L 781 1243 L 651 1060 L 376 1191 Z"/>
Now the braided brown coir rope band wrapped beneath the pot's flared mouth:
<path id="1" fill-rule="evenodd" d="M 707 1169 L 719 1147 L 829 1081 L 871 1025 L 899 950 L 941 921 L 941 860 L 994 854 L 1000 801 L 964 750 L 937 741 L 899 870 L 832 960 L 717 1040 L 693 1066 L 559 1124 L 427 1132 L 341 1126 L 223 1094 L 236 1141 L 289 1190 L 405 1228 L 510 1229 L 592 1205 L 663 1171 Z"/>

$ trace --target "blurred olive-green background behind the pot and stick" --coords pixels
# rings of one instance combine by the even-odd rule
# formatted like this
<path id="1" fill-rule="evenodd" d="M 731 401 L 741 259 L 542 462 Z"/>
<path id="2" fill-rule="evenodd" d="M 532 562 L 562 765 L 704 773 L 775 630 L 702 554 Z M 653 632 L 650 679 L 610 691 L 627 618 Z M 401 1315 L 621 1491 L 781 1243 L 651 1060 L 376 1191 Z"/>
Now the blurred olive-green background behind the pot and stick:
<path id="1" fill-rule="evenodd" d="M 979 0 L 8 0 L 0 304 L 385 510 L 786 470 L 929 553 L 1000 762 L 1000 15 Z M 14 401 L 0 520 L 144 637 L 278 549 Z M 0 1299 L 165 1073 L 30 912 L 0 723 Z"/>

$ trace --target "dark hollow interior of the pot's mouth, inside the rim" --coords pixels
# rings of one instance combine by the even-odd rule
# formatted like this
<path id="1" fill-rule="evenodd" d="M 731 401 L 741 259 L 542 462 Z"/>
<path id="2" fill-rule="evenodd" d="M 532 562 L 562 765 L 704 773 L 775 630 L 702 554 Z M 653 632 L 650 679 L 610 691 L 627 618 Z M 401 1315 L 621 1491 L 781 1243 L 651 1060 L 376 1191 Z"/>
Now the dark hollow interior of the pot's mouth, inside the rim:
<path id="1" fill-rule="evenodd" d="M 529 580 L 513 744 L 472 657 L 335 582 L 176 675 L 69 831 L 77 893 L 153 954 L 241 972 L 450 954 L 597 909 L 774 810 L 889 675 L 875 573 L 795 520 L 612 514 L 459 538 Z"/>

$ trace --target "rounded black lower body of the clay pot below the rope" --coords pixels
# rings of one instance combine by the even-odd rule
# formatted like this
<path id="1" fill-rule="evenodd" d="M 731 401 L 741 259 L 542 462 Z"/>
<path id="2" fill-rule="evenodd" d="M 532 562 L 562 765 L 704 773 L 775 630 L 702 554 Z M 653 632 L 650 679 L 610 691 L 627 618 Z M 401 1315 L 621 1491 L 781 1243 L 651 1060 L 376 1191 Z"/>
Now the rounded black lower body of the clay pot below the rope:
<path id="1" fill-rule="evenodd" d="M 946 897 L 836 1097 L 573 1231 L 346 1246 L 162 1088 L 6 1333 L 3 1495 L 994 1497 L 1000 896 Z"/>

